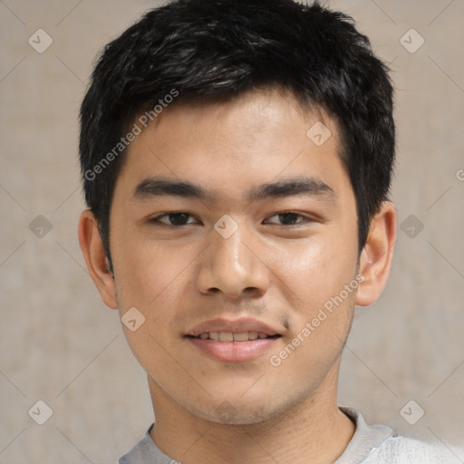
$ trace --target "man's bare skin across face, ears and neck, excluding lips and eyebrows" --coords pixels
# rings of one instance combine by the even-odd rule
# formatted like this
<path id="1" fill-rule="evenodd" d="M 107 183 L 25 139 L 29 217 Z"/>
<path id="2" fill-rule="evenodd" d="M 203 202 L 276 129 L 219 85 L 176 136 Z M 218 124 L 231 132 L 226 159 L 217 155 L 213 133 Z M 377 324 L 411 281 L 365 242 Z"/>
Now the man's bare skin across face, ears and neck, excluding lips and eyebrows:
<path id="1" fill-rule="evenodd" d="M 332 132 L 320 147 L 306 135 L 316 121 Z M 343 344 L 354 305 L 372 304 L 386 284 L 396 216 L 390 202 L 382 203 L 359 255 L 355 198 L 337 133 L 324 111 L 304 113 L 293 94 L 277 89 L 227 102 L 179 101 L 131 142 L 117 179 L 114 275 L 92 212 L 82 213 L 79 240 L 102 300 L 121 316 L 136 307 L 146 318 L 135 332 L 123 329 L 148 374 L 151 437 L 171 458 L 329 463 L 351 440 L 353 422 L 337 406 Z M 134 197 L 150 177 L 190 181 L 210 197 Z M 247 198 L 252 188 L 295 178 L 317 179 L 331 190 Z M 288 211 L 301 216 L 277 215 Z M 188 224 L 150 221 L 169 212 L 189 214 Z M 225 214 L 238 227 L 228 238 L 214 228 Z M 305 324 L 358 273 L 357 289 L 272 365 L 270 357 L 298 333 L 301 340 Z M 242 315 L 282 335 L 256 360 L 220 362 L 184 336 L 203 321 Z"/>

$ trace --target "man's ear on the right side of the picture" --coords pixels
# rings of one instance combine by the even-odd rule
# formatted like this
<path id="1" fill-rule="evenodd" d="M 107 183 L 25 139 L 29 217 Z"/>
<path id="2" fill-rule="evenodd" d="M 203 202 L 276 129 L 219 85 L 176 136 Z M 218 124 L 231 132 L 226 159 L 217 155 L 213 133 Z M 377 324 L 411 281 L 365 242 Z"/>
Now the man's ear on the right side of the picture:
<path id="1" fill-rule="evenodd" d="M 356 304 L 367 306 L 382 294 L 390 275 L 396 242 L 396 209 L 390 201 L 382 203 L 372 218 L 369 234 L 360 256 L 359 274 L 363 276 Z"/>

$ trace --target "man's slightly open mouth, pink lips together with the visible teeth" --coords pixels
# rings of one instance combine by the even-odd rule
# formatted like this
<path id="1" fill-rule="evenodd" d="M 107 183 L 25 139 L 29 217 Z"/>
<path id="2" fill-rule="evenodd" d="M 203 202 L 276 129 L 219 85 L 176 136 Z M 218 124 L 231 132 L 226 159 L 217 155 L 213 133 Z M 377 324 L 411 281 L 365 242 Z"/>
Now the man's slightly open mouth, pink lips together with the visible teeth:
<path id="1" fill-rule="evenodd" d="M 219 362 L 254 361 L 281 337 L 268 325 L 249 318 L 208 321 L 185 335 L 201 355 Z"/>

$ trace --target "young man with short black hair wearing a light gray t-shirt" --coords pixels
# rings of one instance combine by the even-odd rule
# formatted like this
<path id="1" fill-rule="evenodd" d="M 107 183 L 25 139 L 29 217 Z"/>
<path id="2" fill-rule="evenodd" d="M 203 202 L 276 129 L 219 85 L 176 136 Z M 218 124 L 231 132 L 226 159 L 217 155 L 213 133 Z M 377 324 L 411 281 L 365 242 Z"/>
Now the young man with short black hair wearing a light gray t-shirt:
<path id="1" fill-rule="evenodd" d="M 448 462 L 337 404 L 396 237 L 391 82 L 351 18 L 170 3 L 106 47 L 81 116 L 82 253 L 156 420 L 121 463 Z"/>

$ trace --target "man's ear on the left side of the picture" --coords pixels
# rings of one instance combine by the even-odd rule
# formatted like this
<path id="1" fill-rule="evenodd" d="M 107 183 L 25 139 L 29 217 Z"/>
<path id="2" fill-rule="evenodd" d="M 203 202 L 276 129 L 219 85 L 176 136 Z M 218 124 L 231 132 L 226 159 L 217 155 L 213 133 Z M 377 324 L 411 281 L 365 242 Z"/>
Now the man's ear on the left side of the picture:
<path id="1" fill-rule="evenodd" d="M 93 284 L 102 296 L 103 303 L 117 309 L 116 287 L 105 256 L 102 239 L 98 231 L 97 220 L 90 209 L 82 212 L 79 218 L 79 245 Z"/>

